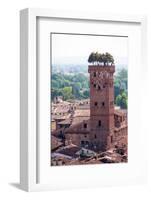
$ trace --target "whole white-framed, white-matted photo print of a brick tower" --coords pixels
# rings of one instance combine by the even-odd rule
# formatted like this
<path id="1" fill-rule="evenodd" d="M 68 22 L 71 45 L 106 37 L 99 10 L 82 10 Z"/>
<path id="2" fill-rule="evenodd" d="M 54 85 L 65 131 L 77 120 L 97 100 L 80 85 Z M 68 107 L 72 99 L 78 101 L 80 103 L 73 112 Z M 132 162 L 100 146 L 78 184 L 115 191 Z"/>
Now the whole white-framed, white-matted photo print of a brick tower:
<path id="1" fill-rule="evenodd" d="M 47 9 L 20 16 L 21 187 L 146 182 L 146 18 Z"/>

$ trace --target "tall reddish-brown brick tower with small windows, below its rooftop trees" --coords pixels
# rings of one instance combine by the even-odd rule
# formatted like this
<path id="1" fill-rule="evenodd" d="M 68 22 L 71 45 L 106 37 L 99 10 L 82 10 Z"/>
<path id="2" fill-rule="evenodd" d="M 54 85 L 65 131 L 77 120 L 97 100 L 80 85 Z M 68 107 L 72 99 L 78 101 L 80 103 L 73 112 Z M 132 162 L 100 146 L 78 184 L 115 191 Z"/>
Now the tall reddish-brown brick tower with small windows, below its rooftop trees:
<path id="1" fill-rule="evenodd" d="M 114 140 L 114 65 L 89 65 L 90 141 L 97 150 L 106 150 Z"/>

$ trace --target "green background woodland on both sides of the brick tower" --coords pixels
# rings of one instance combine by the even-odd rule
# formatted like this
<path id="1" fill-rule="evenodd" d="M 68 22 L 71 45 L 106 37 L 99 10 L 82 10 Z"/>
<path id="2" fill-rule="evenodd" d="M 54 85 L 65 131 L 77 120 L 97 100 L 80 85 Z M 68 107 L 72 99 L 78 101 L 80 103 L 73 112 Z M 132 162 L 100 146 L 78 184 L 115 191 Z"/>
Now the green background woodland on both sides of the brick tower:
<path id="1" fill-rule="evenodd" d="M 53 73 L 51 76 L 51 99 L 62 96 L 64 100 L 87 99 L 90 96 L 89 76 L 84 73 Z M 114 76 L 114 102 L 127 108 L 127 70 L 119 69 Z"/>

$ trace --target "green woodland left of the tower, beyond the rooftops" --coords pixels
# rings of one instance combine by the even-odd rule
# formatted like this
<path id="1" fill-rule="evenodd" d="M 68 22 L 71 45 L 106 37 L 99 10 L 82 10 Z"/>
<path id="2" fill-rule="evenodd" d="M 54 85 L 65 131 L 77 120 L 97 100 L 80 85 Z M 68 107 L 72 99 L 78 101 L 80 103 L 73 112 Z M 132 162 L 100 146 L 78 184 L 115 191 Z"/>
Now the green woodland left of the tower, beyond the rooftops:
<path id="1" fill-rule="evenodd" d="M 53 73 L 51 76 L 51 99 L 62 96 L 64 100 L 89 98 L 89 79 L 83 73 L 74 75 Z"/>

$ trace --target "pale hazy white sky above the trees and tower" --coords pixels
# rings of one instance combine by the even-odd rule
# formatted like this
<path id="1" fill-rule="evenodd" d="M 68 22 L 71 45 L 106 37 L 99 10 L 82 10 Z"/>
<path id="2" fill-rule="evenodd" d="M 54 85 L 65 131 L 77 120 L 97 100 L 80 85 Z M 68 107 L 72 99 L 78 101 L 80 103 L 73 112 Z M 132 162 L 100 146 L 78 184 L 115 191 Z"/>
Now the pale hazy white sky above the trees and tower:
<path id="1" fill-rule="evenodd" d="M 128 38 L 111 36 L 88 36 L 52 34 L 52 63 L 87 63 L 91 52 L 113 55 L 115 63 L 127 64 Z"/>

